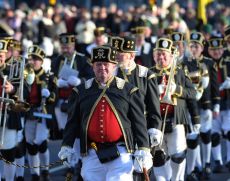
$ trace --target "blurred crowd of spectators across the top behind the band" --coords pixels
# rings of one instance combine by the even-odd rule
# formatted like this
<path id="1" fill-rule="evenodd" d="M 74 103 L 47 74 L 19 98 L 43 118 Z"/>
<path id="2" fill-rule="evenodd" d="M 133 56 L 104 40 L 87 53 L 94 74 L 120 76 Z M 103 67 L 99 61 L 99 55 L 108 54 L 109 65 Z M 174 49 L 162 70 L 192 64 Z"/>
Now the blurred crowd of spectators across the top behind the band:
<path id="1" fill-rule="evenodd" d="M 93 6 L 91 9 L 75 5 L 56 4 L 47 6 L 44 3 L 29 7 L 21 3 L 16 9 L 10 7 L 1 11 L 1 30 L 7 31 L 15 39 L 22 41 L 24 49 L 34 44 L 45 49 L 47 56 L 60 51 L 58 35 L 64 32 L 75 32 L 78 43 L 90 44 L 94 40 L 93 31 L 98 26 L 106 27 L 108 35 L 119 35 L 131 31 L 137 22 L 145 23 L 146 37 L 160 37 L 167 29 L 187 33 L 198 30 L 209 36 L 213 32 L 223 33 L 224 27 L 230 24 L 230 7 L 214 2 L 207 6 L 208 24 L 203 25 L 197 18 L 197 9 L 193 0 L 180 7 L 174 2 L 168 7 L 129 6 L 120 9 L 116 4 L 108 8 Z M 9 26 L 9 27 L 8 27 Z"/>

